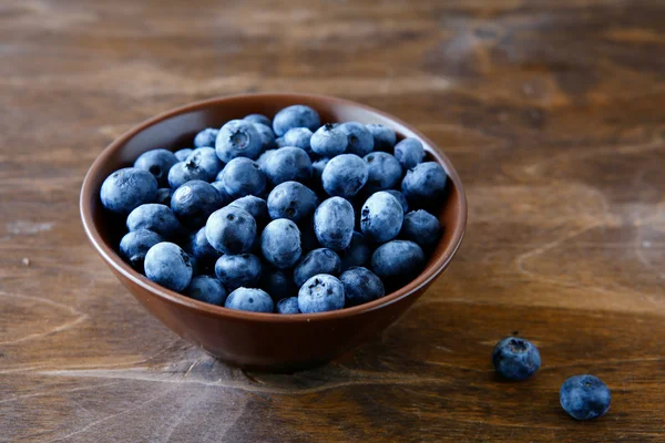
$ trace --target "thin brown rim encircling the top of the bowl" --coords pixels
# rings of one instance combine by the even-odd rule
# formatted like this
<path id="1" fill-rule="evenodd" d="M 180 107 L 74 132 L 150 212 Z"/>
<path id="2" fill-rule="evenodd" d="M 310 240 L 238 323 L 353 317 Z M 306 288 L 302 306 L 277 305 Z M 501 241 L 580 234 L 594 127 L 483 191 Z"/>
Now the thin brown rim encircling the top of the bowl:
<path id="1" fill-rule="evenodd" d="M 456 219 L 453 231 L 451 235 L 451 240 L 448 247 L 442 251 L 440 257 L 438 257 L 432 264 L 424 268 L 424 270 L 418 275 L 413 280 L 411 280 L 408 285 L 401 287 L 397 291 L 390 292 L 377 300 L 369 301 L 367 303 L 362 303 L 359 306 L 344 308 L 335 311 L 328 312 L 316 312 L 316 313 L 295 313 L 295 315 L 279 315 L 279 313 L 268 313 L 268 312 L 250 312 L 250 311 L 242 311 L 225 308 L 223 306 L 216 306 L 206 303 L 204 301 L 194 300 L 187 296 L 181 295 L 178 292 L 166 289 L 151 280 L 149 280 L 145 276 L 136 272 L 132 269 L 127 264 L 125 264 L 122 258 L 110 248 L 106 243 L 103 240 L 98 227 L 94 224 L 94 218 L 92 216 L 92 207 L 89 204 L 91 198 L 99 193 L 99 189 L 95 189 L 92 185 L 93 177 L 100 174 L 100 169 L 104 165 L 104 163 L 110 159 L 117 150 L 120 150 L 129 140 L 131 140 L 136 134 L 141 133 L 145 128 L 157 124 L 162 121 L 171 119 L 173 116 L 185 114 L 193 111 L 198 111 L 205 109 L 207 106 L 219 104 L 223 102 L 233 102 L 237 100 L 244 100 L 247 97 L 265 97 L 266 100 L 272 99 L 288 99 L 293 100 L 294 104 L 298 102 L 298 100 L 304 99 L 307 102 L 332 102 L 340 105 L 354 106 L 361 109 L 364 111 L 368 111 L 370 113 L 378 114 L 386 120 L 390 120 L 397 125 L 403 126 L 408 131 L 410 131 L 413 135 L 419 137 L 424 142 L 426 151 L 439 163 L 444 165 L 446 172 L 450 181 L 454 183 L 457 192 L 459 194 L 459 213 Z M 410 297 L 427 287 L 433 279 L 436 279 L 450 264 L 452 257 L 459 249 L 462 238 L 464 236 L 466 227 L 467 227 L 467 196 L 464 193 L 464 188 L 462 186 L 461 179 L 456 171 L 454 166 L 450 162 L 450 159 L 438 148 L 438 146 L 432 143 L 427 136 L 424 136 L 421 132 L 413 128 L 411 125 L 407 124 L 402 120 L 390 115 L 386 112 L 377 110 L 371 106 L 367 106 L 362 103 L 354 102 L 350 100 L 339 99 L 329 95 L 321 94 L 309 94 L 309 93 L 239 93 L 232 95 L 222 95 L 213 99 L 207 99 L 203 101 L 197 101 L 193 103 L 185 104 L 183 106 L 175 107 L 173 110 L 163 112 L 154 117 L 147 119 L 142 123 L 135 125 L 131 130 L 126 131 L 120 137 L 115 138 L 110 145 L 108 145 L 100 155 L 94 159 L 90 169 L 85 174 L 85 178 L 83 179 L 83 184 L 81 186 L 80 194 L 80 213 L 81 219 L 83 224 L 83 229 L 92 243 L 98 254 L 102 257 L 102 259 L 106 262 L 108 266 L 112 267 L 116 272 L 121 274 L 124 278 L 127 278 L 133 284 L 142 287 L 143 289 L 150 291 L 154 296 L 174 305 L 178 305 L 183 308 L 195 310 L 201 315 L 205 315 L 207 317 L 226 317 L 231 319 L 241 319 L 241 320 L 253 320 L 260 322 L 309 322 L 315 320 L 335 320 L 347 317 L 355 317 L 362 315 L 368 311 L 374 311 L 376 309 L 381 309 L 386 306 L 392 305 L 406 297 Z"/>

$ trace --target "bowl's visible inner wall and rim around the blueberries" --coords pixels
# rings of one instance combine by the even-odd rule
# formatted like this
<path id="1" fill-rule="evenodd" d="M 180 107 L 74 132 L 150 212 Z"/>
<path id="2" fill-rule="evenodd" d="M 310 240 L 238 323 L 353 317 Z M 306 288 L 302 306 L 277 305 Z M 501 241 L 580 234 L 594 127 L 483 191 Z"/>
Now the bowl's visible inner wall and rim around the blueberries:
<path id="1" fill-rule="evenodd" d="M 428 161 L 440 163 L 448 173 L 448 190 L 440 202 L 439 217 L 443 228 L 441 240 L 430 255 L 424 270 L 407 286 L 386 297 L 339 311 L 308 316 L 276 316 L 270 313 L 232 311 L 226 308 L 200 302 L 162 288 L 139 272 L 135 272 L 115 253 L 124 234 L 119 227 L 124 220 L 115 220 L 103 210 L 99 192 L 103 181 L 114 171 L 131 166 L 142 153 L 163 147 L 177 151 L 193 147 L 194 135 L 205 127 L 219 127 L 233 119 L 242 119 L 252 113 L 273 117 L 280 109 L 291 104 L 306 104 L 319 113 L 321 123 L 356 121 L 364 124 L 379 123 L 396 131 L 398 138 L 416 137 L 423 144 Z M 413 293 L 428 285 L 440 274 L 459 247 L 467 222 L 467 204 L 460 178 L 450 161 L 422 134 L 400 120 L 371 107 L 328 96 L 308 94 L 245 94 L 213 99 L 166 112 L 151 119 L 113 142 L 94 162 L 83 183 L 81 192 L 81 215 L 84 228 L 106 262 L 151 291 L 191 309 L 204 310 L 211 315 L 254 317 L 257 319 L 284 319 L 303 321 L 315 317 L 345 316 L 367 309 L 376 309 L 398 298 Z"/>

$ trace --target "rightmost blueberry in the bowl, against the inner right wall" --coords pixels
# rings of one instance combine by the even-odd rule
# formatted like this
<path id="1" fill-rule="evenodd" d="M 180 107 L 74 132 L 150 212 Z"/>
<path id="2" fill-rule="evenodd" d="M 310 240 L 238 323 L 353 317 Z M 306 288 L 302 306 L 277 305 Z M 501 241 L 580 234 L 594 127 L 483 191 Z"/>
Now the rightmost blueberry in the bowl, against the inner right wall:
<path id="1" fill-rule="evenodd" d="M 446 171 L 438 163 L 420 163 L 407 172 L 401 190 L 409 203 L 431 206 L 443 195 L 446 179 Z"/>

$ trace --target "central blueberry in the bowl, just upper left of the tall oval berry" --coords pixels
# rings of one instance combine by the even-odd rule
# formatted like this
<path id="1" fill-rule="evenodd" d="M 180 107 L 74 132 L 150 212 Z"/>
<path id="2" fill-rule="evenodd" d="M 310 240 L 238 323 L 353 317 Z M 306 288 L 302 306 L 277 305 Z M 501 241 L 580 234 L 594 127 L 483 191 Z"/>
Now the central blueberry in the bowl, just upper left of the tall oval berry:
<path id="1" fill-rule="evenodd" d="M 298 182 L 284 182 L 268 195 L 270 218 L 288 218 L 299 223 L 311 216 L 318 205 L 314 190 Z"/>

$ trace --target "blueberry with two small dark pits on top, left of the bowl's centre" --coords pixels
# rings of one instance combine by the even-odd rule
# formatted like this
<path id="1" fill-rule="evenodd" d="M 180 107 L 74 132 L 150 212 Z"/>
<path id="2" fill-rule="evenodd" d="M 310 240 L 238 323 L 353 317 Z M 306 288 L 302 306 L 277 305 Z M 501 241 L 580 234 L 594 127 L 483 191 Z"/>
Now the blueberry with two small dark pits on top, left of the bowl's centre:
<path id="1" fill-rule="evenodd" d="M 256 220 L 245 209 L 226 206 L 213 213 L 205 225 L 211 246 L 224 254 L 245 254 L 256 239 Z"/>

